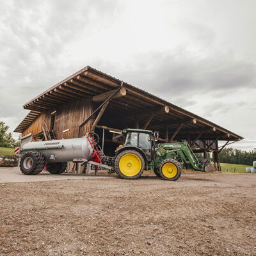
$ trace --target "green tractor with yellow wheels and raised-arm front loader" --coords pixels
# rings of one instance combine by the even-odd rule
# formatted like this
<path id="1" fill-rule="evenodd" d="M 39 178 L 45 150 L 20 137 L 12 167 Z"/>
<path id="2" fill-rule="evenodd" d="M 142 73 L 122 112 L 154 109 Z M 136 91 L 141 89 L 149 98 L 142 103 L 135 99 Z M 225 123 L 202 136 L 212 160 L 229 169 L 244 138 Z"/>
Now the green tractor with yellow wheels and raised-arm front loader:
<path id="1" fill-rule="evenodd" d="M 124 144 L 115 150 L 114 168 L 124 179 L 154 170 L 157 177 L 177 180 L 182 168 L 205 172 L 211 166 L 209 159 L 199 161 L 187 142 L 156 144 L 157 132 L 141 129 L 125 129 L 121 136 Z"/>

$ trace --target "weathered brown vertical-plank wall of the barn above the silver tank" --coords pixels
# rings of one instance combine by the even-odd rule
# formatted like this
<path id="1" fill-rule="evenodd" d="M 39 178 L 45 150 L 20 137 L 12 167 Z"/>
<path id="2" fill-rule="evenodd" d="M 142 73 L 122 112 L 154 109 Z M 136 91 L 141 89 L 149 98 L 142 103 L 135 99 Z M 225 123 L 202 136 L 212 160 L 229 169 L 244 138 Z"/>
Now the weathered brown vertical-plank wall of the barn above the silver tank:
<path id="1" fill-rule="evenodd" d="M 51 113 L 54 109 L 41 113 L 25 130 L 22 132 L 22 136 L 29 134 L 36 134 L 42 131 L 43 124 L 47 124 L 50 127 Z M 92 98 L 86 97 L 76 102 L 72 102 L 67 106 L 60 106 L 56 108 L 56 117 L 54 122 L 54 132 L 57 139 L 69 139 L 77 138 L 78 126 L 86 119 L 88 115 L 92 113 Z M 81 129 L 81 134 L 90 131 L 93 120 L 88 121 L 86 125 Z M 68 132 L 63 132 L 69 129 Z"/>

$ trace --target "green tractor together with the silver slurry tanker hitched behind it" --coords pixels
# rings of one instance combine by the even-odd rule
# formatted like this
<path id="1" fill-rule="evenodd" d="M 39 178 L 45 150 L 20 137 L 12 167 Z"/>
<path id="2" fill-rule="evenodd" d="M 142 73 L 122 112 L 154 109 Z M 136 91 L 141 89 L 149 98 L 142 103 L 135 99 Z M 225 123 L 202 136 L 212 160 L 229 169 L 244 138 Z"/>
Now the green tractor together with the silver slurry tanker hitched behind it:
<path id="1" fill-rule="evenodd" d="M 20 148 L 20 170 L 36 175 L 44 169 L 52 174 L 65 172 L 67 162 L 94 164 L 116 172 L 123 179 L 137 179 L 144 170 L 154 170 L 157 177 L 177 180 L 182 168 L 207 172 L 214 170 L 208 159 L 198 160 L 188 143 L 157 144 L 157 132 L 141 129 L 122 131 L 122 145 L 114 157 L 104 155 L 99 135 L 87 133 L 83 138 L 29 142 Z"/>

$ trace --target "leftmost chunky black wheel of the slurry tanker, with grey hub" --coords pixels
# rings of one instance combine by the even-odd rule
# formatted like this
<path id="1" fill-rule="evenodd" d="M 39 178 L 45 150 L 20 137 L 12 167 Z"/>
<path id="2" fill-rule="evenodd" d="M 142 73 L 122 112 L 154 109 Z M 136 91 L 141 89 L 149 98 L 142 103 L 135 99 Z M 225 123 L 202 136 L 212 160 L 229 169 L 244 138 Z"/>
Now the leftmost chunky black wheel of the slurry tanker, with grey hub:
<path id="1" fill-rule="evenodd" d="M 20 159 L 20 171 L 26 175 L 36 175 L 45 166 L 44 156 L 37 151 L 26 152 Z"/>

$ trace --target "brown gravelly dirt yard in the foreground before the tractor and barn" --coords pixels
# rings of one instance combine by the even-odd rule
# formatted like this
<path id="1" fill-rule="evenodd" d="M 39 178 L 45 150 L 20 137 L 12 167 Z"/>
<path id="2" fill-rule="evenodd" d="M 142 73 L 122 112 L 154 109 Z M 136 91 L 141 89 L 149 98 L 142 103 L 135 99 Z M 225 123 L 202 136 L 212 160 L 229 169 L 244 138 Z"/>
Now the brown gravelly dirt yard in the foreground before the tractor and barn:
<path id="1" fill-rule="evenodd" d="M 256 175 L 0 184 L 0 255 L 256 255 Z"/>

